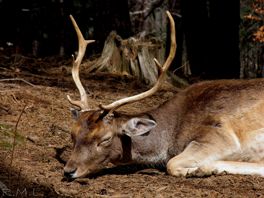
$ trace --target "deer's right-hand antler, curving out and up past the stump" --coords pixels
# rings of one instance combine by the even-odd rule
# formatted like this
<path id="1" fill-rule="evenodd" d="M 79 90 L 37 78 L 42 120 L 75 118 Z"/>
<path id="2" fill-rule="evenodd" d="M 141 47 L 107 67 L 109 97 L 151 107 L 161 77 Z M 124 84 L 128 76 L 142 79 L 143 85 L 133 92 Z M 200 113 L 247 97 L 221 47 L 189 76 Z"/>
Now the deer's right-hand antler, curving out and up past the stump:
<path id="1" fill-rule="evenodd" d="M 159 88 L 161 87 L 164 79 L 165 79 L 165 76 L 166 76 L 166 73 L 171 65 L 171 62 L 173 61 L 174 59 L 174 56 L 175 56 L 175 52 L 176 52 L 176 41 L 175 41 L 175 24 L 174 24 L 174 20 L 171 16 L 171 14 L 167 11 L 167 15 L 169 17 L 169 21 L 170 21 L 170 24 L 171 24 L 171 47 L 170 47 L 170 54 L 169 54 L 169 57 L 167 58 L 164 66 L 162 67 L 160 65 L 160 63 L 154 58 L 154 61 L 156 63 L 156 66 L 158 68 L 158 79 L 156 81 L 156 84 L 154 85 L 153 88 L 149 89 L 148 91 L 144 92 L 144 93 L 141 93 L 141 94 L 138 94 L 136 96 L 132 96 L 132 97 L 128 97 L 128 98 L 124 98 L 124 99 L 121 99 L 121 100 L 118 100 L 118 101 L 115 101 L 113 102 L 112 104 L 110 105 L 102 105 L 102 103 L 99 104 L 99 107 L 103 110 L 101 111 L 101 114 L 106 111 L 108 112 L 108 114 L 106 116 L 113 116 L 113 112 L 118 109 L 119 107 L 123 106 L 123 105 L 126 105 L 126 104 L 129 104 L 129 103 L 132 103 L 132 102 L 136 102 L 138 100 L 141 100 L 143 98 L 146 98 L 146 97 L 149 97 L 151 95 L 153 95 L 154 93 L 156 93 Z"/>

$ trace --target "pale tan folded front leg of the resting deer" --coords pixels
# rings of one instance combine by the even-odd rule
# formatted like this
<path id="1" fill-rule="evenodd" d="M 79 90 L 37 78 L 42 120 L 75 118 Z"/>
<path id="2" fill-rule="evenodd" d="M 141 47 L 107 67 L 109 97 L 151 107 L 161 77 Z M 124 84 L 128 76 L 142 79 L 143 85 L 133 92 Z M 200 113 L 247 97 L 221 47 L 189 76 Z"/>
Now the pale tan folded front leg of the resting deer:
<path id="1" fill-rule="evenodd" d="M 250 174 L 264 176 L 264 164 L 230 161 L 238 154 L 236 144 L 190 144 L 182 153 L 167 163 L 167 171 L 173 176 L 219 174 Z M 223 161 L 225 160 L 225 161 Z"/>

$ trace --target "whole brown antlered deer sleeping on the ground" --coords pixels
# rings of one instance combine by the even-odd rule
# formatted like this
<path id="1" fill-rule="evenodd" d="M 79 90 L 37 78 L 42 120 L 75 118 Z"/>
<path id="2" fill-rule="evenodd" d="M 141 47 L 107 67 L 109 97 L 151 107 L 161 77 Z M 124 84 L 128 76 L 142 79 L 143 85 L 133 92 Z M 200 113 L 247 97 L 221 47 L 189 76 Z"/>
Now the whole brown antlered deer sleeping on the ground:
<path id="1" fill-rule="evenodd" d="M 63 174 L 84 177 L 108 163 L 121 165 L 167 164 L 173 176 L 204 176 L 227 171 L 264 177 L 264 80 L 215 80 L 193 84 L 161 105 L 140 114 L 117 110 L 156 93 L 176 50 L 175 26 L 171 27 L 170 54 L 162 67 L 155 59 L 158 80 L 136 96 L 90 109 L 79 79 L 86 46 L 71 17 L 79 40 L 76 60 L 71 57 L 72 77 L 80 101 L 69 102 L 76 123 L 72 128 L 73 152 Z M 250 163 L 249 163 L 250 162 Z"/>

